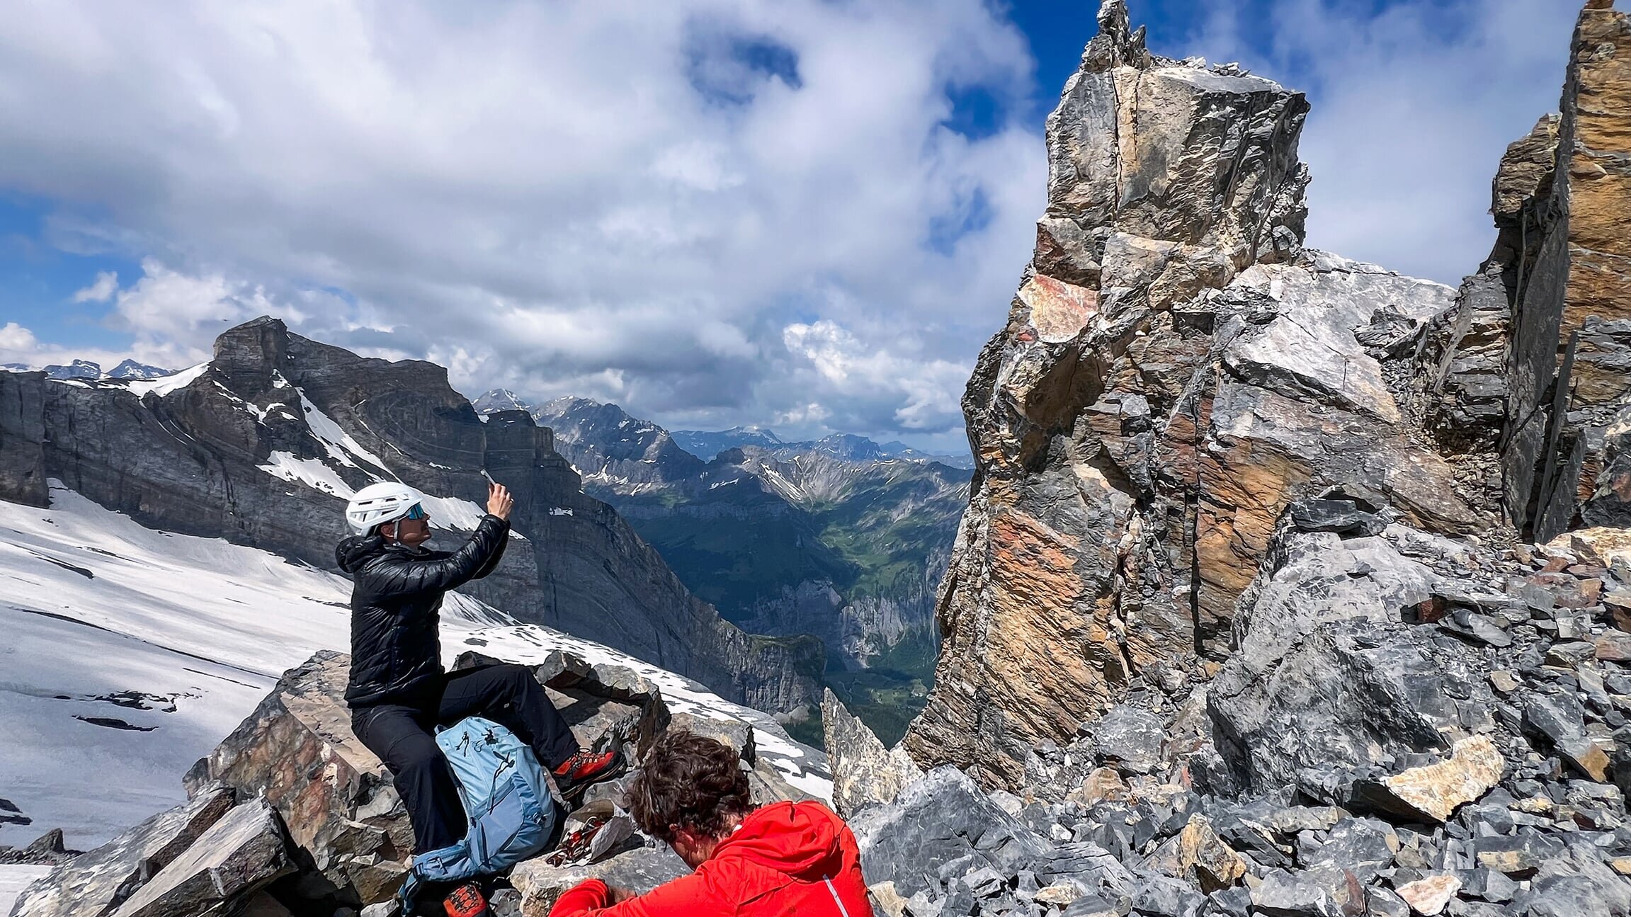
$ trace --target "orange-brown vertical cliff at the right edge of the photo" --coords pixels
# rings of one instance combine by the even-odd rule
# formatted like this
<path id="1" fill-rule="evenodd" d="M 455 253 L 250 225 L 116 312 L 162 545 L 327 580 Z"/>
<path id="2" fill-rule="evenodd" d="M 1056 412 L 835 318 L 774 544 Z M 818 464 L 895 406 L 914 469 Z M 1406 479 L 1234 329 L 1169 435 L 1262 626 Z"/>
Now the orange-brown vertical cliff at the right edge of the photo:
<path id="1" fill-rule="evenodd" d="M 1510 168 L 1522 147 L 1541 147 L 1540 131 L 1502 163 L 1497 222 L 1517 230 L 1502 240 L 1525 243 L 1497 243 L 1491 258 L 1507 269 L 1515 315 L 1507 503 L 1538 538 L 1631 524 L 1631 16 L 1610 0 L 1580 13 L 1561 111 L 1546 122 L 1543 181 Z"/>

